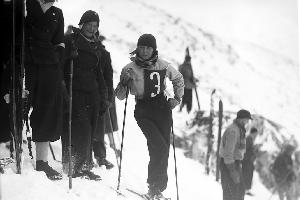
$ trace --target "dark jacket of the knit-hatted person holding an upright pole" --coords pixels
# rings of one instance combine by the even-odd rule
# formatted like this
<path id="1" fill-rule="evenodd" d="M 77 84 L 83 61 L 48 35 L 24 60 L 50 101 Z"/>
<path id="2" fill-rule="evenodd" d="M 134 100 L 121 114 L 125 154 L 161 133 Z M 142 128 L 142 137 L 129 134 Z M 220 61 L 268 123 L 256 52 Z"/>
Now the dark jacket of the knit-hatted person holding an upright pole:
<path id="1" fill-rule="evenodd" d="M 102 100 L 100 111 L 106 109 L 103 106 L 104 100 L 108 100 L 108 87 L 101 67 L 103 47 L 99 43 L 87 41 L 78 29 L 74 29 L 74 33 L 65 36 L 65 45 L 64 80 L 67 88 L 70 82 L 71 55 L 75 48 L 78 56 L 73 59 L 73 90 L 85 92 L 98 90 Z"/>

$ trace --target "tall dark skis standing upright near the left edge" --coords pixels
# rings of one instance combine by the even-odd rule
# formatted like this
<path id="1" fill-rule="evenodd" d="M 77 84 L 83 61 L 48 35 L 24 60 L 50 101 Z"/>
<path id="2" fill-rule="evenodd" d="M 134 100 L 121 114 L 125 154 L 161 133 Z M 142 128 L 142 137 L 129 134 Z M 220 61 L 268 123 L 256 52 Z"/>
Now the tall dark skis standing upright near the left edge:
<path id="1" fill-rule="evenodd" d="M 18 174 L 21 174 L 21 163 L 22 163 L 22 131 L 23 131 L 23 89 L 24 89 L 24 18 L 25 18 L 25 2 L 12 0 L 12 50 L 11 50 L 11 89 L 10 89 L 10 115 L 12 119 L 12 135 L 15 147 L 15 159 L 16 159 L 16 170 Z M 21 5 L 20 5 L 21 4 Z M 21 41 L 17 41 L 17 16 L 21 9 L 21 36 L 18 38 Z M 17 62 L 17 49 L 19 50 L 19 63 Z"/>

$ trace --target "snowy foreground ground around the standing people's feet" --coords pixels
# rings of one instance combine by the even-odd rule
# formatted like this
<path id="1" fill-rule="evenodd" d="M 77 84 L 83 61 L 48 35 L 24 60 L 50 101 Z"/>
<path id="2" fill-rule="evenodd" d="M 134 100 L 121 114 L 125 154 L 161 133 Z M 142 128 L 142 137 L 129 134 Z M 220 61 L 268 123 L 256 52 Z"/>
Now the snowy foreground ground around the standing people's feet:
<path id="1" fill-rule="evenodd" d="M 119 113 L 122 113 L 124 102 L 118 104 Z M 133 188 L 137 191 L 147 192 L 147 163 L 148 153 L 146 141 L 143 134 L 137 127 L 133 118 L 133 99 L 129 101 L 127 121 L 124 138 L 124 152 L 122 163 L 121 190 L 125 187 Z M 122 115 L 119 115 L 122 120 Z M 174 112 L 175 124 L 180 123 L 182 114 Z M 179 131 L 175 126 L 175 132 Z M 53 143 L 57 159 L 60 160 L 60 144 Z M 25 146 L 25 148 L 27 148 Z M 4 148 L 1 147 L 1 151 Z M 25 155 L 28 157 L 27 149 Z M 2 151 L 3 152 L 3 151 Z M 204 166 L 185 158 L 180 149 L 176 149 L 177 167 L 178 167 L 178 184 L 179 195 L 182 200 L 198 200 L 198 199 L 222 199 L 221 185 L 215 181 L 214 176 L 207 176 L 204 173 Z M 52 158 L 49 155 L 49 158 Z M 112 149 L 108 149 L 109 160 L 115 162 Z M 33 170 L 32 162 L 26 158 L 22 175 L 15 174 L 13 169 L 7 169 L 1 179 L 1 195 L 2 200 L 139 200 L 140 198 L 126 192 L 126 198 L 116 194 L 111 187 L 117 187 L 118 170 L 113 168 L 108 171 L 103 168 L 95 168 L 94 172 L 101 175 L 102 181 L 88 181 L 80 178 L 73 179 L 73 189 L 68 189 L 68 178 L 65 175 L 61 181 L 52 182 L 48 180 L 44 173 Z M 56 169 L 61 170 L 60 164 L 51 159 L 51 164 Z M 174 177 L 174 159 L 173 150 L 170 150 L 169 159 L 169 183 L 168 188 L 164 192 L 165 196 L 176 199 L 176 185 Z M 246 197 L 246 200 L 262 200 L 268 199 L 270 193 L 261 185 L 257 174 L 254 177 L 254 197 Z M 277 200 L 277 197 L 272 200 Z"/>

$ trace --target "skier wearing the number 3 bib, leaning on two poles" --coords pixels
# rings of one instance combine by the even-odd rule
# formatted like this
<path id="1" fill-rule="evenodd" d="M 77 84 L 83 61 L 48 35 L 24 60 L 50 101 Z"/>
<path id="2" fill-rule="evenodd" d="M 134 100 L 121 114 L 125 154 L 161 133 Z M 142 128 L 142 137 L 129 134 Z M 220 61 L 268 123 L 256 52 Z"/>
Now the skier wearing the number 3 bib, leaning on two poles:
<path id="1" fill-rule="evenodd" d="M 148 196 L 163 197 L 168 182 L 167 168 L 172 126 L 172 109 L 179 105 L 184 93 L 182 74 L 158 57 L 156 39 L 151 34 L 139 37 L 131 61 L 121 72 L 115 89 L 118 99 L 126 98 L 128 90 L 135 96 L 134 117 L 147 139 L 150 162 L 148 164 Z M 165 96 L 165 81 L 173 84 L 174 98 Z"/>

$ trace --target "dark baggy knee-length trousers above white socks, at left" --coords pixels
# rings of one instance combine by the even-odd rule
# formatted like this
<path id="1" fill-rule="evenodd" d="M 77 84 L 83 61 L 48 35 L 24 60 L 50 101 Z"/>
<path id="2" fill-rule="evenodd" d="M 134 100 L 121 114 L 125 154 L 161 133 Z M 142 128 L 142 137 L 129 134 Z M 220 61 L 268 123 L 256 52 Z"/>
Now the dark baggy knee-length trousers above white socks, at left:
<path id="1" fill-rule="evenodd" d="M 33 108 L 30 115 L 32 140 L 58 140 L 63 131 L 62 72 L 58 64 L 28 65 L 26 86 Z"/>

